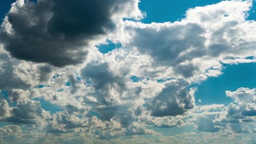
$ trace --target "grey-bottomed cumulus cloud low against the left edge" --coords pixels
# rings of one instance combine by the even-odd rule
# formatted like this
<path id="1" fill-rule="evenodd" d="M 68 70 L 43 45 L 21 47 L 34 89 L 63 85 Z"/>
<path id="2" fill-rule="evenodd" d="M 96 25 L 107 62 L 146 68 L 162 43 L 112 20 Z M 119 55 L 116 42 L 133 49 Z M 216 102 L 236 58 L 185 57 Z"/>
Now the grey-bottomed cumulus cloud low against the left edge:
<path id="1" fill-rule="evenodd" d="M 15 106 L 10 107 L 9 103 Z M 1 98 L 3 122 L 44 125 L 49 118 L 49 112 L 42 109 L 40 102 L 29 99 L 22 90 L 10 93 L 9 103 Z"/>

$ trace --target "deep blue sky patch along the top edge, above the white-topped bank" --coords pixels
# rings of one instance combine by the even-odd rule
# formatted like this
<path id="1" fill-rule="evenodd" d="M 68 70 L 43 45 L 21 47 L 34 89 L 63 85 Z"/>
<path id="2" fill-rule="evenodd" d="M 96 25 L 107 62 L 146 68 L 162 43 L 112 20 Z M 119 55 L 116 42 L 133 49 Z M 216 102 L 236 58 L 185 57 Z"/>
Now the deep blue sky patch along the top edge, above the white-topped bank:
<path id="1" fill-rule="evenodd" d="M 219 3 L 222 0 L 141 0 L 139 8 L 146 12 L 141 22 L 174 22 L 185 18 L 186 10 L 196 6 Z"/>

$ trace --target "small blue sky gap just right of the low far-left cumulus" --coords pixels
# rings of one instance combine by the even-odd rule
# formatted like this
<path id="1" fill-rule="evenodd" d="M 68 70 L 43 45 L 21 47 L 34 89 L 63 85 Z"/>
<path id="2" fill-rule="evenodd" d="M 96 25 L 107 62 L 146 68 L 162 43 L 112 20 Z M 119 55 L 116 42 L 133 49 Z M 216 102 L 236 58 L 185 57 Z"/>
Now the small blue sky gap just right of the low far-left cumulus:
<path id="1" fill-rule="evenodd" d="M 52 114 L 58 111 L 63 111 L 63 109 L 58 105 L 52 104 L 51 102 L 46 101 L 43 98 L 34 98 L 33 100 L 40 101 L 41 107 Z"/>

